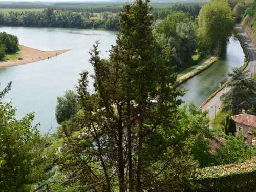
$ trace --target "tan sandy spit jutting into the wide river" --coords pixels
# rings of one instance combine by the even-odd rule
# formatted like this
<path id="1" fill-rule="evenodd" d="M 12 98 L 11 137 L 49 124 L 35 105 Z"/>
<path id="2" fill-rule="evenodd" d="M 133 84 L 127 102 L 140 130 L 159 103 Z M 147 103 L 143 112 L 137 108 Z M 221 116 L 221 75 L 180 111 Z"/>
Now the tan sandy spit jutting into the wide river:
<path id="1" fill-rule="evenodd" d="M 50 59 L 51 57 L 55 57 L 70 49 L 63 49 L 63 50 L 56 50 L 56 51 L 41 51 L 38 49 L 33 49 L 30 47 L 26 47 L 23 45 L 19 45 L 19 56 L 11 60 L 4 60 L 0 61 L 0 68 L 11 67 L 11 66 L 18 66 L 23 65 L 31 62 L 37 62 L 45 59 Z M 39 58 L 39 56 L 41 58 Z M 18 60 L 18 57 L 23 58 L 22 60 Z"/>

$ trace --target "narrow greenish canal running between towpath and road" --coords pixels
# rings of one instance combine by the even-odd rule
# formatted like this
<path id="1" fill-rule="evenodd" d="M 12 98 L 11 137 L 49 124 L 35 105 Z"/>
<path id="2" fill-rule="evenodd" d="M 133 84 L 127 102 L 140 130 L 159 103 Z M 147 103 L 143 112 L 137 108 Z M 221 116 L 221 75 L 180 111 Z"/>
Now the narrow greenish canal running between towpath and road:
<path id="1" fill-rule="evenodd" d="M 219 83 L 222 85 L 230 79 L 227 72 L 231 72 L 233 67 L 240 67 L 244 64 L 244 58 L 240 42 L 233 33 L 229 44 L 222 49 L 218 61 L 178 87 L 188 90 L 181 99 L 184 102 L 193 101 L 196 106 L 201 105 L 219 88 Z"/>

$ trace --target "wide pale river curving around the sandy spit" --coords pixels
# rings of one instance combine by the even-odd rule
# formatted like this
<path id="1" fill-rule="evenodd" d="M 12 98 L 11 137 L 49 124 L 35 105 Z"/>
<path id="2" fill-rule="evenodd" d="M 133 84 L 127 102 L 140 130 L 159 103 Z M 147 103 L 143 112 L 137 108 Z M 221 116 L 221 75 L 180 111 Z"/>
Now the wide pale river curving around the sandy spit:
<path id="1" fill-rule="evenodd" d="M 88 51 L 92 49 L 95 40 L 100 40 L 99 50 L 104 58 L 108 56 L 105 51 L 110 50 L 116 39 L 113 31 L 90 29 L 0 27 L 0 31 L 18 36 L 21 45 L 34 49 L 72 49 L 49 60 L 0 69 L 0 90 L 12 81 L 12 89 L 2 102 L 11 101 L 17 108 L 18 118 L 35 112 L 33 124 L 40 122 L 41 133 L 57 126 L 57 96 L 63 96 L 64 91 L 75 90 L 78 74 L 82 70 L 93 72 L 88 62 Z"/>

